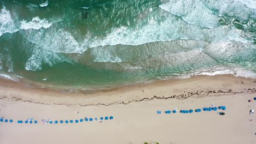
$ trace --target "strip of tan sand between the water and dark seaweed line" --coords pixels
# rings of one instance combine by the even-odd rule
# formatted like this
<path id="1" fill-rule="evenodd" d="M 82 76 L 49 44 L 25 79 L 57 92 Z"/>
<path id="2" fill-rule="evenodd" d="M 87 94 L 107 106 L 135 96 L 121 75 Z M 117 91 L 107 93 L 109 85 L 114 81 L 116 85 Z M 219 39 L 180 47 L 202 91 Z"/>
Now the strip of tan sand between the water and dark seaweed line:
<path id="1" fill-rule="evenodd" d="M 185 99 L 193 95 L 200 95 L 198 92 L 201 92 L 201 95 L 205 95 L 205 93 L 208 93 L 208 95 L 244 93 L 248 89 L 252 89 L 254 92 L 256 88 L 254 81 L 254 79 L 235 77 L 233 75 L 198 75 L 189 79 L 162 80 L 146 85 L 133 85 L 86 93 L 84 91 L 26 87 L 22 83 L 1 79 L 0 99 L 30 100 L 34 103 L 66 105 L 127 104 L 130 103 L 129 101 L 143 99 Z M 222 85 L 216 86 L 219 83 Z M 206 87 L 205 84 L 212 85 L 212 87 Z M 5 95 L 12 96 L 6 97 Z M 104 100 L 106 97 L 108 98 L 107 101 Z"/>

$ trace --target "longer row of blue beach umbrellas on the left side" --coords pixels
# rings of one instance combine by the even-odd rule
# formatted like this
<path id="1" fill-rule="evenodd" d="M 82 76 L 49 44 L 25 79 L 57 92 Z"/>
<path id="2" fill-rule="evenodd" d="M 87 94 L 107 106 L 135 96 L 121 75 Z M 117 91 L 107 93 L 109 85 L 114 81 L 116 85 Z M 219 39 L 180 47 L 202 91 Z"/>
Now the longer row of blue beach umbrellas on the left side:
<path id="1" fill-rule="evenodd" d="M 101 120 L 108 120 L 108 119 L 113 119 L 114 117 L 113 116 L 110 116 L 110 117 L 100 117 L 100 119 Z M 85 118 L 85 119 L 80 119 L 80 120 L 78 120 L 78 119 L 75 119 L 74 121 L 73 120 L 65 120 L 65 121 L 63 121 L 63 120 L 60 120 L 60 121 L 49 121 L 49 123 L 50 124 L 57 124 L 57 123 L 79 123 L 79 122 L 84 122 L 84 121 L 93 121 L 94 119 L 93 118 Z M 8 121 L 8 119 L 3 119 L 3 118 L 1 118 L 0 119 L 0 122 L 10 122 L 10 123 L 12 123 L 13 122 L 13 119 L 10 119 L 9 121 Z M 22 120 L 19 120 L 18 121 L 18 123 L 30 123 L 30 124 L 32 124 L 32 123 L 35 123 L 35 124 L 37 124 L 38 122 L 37 121 L 22 121 Z"/>

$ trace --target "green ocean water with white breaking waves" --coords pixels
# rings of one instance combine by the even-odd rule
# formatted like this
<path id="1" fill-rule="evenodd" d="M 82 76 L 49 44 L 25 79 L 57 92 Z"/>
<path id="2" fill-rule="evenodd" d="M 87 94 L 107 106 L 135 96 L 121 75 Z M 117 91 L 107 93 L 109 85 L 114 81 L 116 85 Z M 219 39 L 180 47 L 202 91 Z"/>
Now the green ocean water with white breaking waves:
<path id="1" fill-rule="evenodd" d="M 256 0 L 2 0 L 0 76 L 104 89 L 256 78 Z"/>

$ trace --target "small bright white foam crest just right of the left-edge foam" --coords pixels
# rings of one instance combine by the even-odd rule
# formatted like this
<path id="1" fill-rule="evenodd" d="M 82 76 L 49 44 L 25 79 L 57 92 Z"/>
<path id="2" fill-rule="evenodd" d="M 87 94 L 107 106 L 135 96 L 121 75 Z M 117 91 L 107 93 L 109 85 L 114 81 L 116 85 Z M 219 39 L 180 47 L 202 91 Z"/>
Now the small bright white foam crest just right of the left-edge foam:
<path id="1" fill-rule="evenodd" d="M 49 28 L 51 26 L 51 22 L 48 22 L 45 19 L 40 19 L 39 17 L 34 17 L 32 21 L 27 22 L 25 20 L 21 21 L 20 29 L 40 29 L 40 28 Z"/>

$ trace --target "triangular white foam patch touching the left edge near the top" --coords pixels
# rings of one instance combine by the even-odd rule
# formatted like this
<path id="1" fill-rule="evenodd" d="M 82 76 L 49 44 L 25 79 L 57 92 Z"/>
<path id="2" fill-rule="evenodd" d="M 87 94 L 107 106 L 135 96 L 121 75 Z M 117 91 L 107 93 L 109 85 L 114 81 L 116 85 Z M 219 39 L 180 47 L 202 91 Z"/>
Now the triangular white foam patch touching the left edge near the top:
<path id="1" fill-rule="evenodd" d="M 0 36 L 4 33 L 13 33 L 19 31 L 11 17 L 10 11 L 3 7 L 0 11 Z"/>

